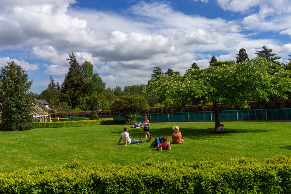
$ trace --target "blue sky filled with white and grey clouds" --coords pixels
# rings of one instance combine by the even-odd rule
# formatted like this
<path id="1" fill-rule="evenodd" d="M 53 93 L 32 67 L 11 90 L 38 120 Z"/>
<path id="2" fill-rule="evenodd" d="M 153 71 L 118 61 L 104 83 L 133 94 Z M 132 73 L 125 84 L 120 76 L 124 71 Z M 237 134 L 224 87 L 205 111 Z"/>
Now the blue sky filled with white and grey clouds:
<path id="1" fill-rule="evenodd" d="M 290 0 L 0 0 L 0 67 L 10 57 L 40 94 L 60 84 L 69 53 L 90 61 L 106 88 L 146 84 L 154 67 L 182 75 L 212 56 L 250 58 L 266 46 L 291 55 Z"/>

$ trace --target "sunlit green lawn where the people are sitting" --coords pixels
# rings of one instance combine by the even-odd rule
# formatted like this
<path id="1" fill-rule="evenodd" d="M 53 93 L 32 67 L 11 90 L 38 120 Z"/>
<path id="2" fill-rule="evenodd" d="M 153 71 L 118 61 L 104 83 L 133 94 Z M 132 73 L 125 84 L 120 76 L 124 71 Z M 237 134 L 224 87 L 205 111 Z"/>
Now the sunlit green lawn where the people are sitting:
<path id="1" fill-rule="evenodd" d="M 223 122 L 226 134 L 211 134 L 214 123 L 151 123 L 152 141 L 166 135 L 171 141 L 172 127 L 178 125 L 184 144 L 173 144 L 172 150 L 158 151 L 150 143 L 124 147 L 118 143 L 123 127 L 129 125 L 99 125 L 33 129 L 31 131 L 0 131 L 0 172 L 18 168 L 53 166 L 71 163 L 128 164 L 155 161 L 223 161 L 246 156 L 265 160 L 277 154 L 290 157 L 291 123 L 285 122 Z M 138 140 L 143 129 L 129 128 L 129 137 Z M 144 139 L 146 140 L 146 139 Z"/>

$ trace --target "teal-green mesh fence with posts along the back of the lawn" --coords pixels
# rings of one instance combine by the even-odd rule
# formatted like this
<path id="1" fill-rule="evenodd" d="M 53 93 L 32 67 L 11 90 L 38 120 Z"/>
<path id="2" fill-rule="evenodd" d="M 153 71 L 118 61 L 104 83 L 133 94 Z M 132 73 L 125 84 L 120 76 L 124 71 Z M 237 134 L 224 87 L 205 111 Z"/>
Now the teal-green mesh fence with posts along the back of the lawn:
<path id="1" fill-rule="evenodd" d="M 257 109 L 257 110 L 236 110 L 219 111 L 220 120 L 242 121 L 242 120 L 291 120 L 291 108 L 282 109 Z M 90 116 L 85 116 L 90 118 Z M 69 118 L 69 117 L 61 117 Z M 113 118 L 113 120 L 124 120 L 122 115 L 99 115 L 99 118 Z M 150 113 L 150 122 L 168 121 L 214 121 L 214 111 L 205 112 L 184 112 L 184 113 Z M 143 122 L 143 118 L 136 118 L 136 121 Z"/>

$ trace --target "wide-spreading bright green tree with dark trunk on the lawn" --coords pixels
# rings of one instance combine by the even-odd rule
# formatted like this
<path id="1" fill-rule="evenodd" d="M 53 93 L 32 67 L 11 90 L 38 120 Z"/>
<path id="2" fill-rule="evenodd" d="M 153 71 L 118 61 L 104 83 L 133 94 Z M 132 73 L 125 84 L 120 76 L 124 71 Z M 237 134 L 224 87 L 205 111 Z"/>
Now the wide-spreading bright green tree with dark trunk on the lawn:
<path id="1" fill-rule="evenodd" d="M 219 104 L 248 108 L 248 101 L 268 101 L 269 95 L 287 99 L 284 92 L 291 91 L 290 73 L 277 65 L 278 71 L 269 74 L 274 70 L 265 63 L 265 58 L 257 58 L 234 65 L 190 68 L 184 76 L 158 76 L 146 90 L 178 99 L 180 106 L 212 103 L 217 128 L 220 124 Z"/>

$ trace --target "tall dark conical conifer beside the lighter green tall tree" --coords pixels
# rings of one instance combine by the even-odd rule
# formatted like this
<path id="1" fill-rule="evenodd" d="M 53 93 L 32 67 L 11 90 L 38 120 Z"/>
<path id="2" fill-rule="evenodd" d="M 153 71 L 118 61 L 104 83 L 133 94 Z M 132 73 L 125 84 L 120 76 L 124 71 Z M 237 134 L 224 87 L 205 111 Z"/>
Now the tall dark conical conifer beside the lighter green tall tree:
<path id="1" fill-rule="evenodd" d="M 88 83 L 85 81 L 81 72 L 82 67 L 79 65 L 74 53 L 69 54 L 67 61 L 70 67 L 62 84 L 62 91 L 64 101 L 74 108 L 79 105 L 79 98 L 86 96 Z"/>

